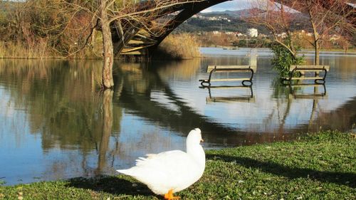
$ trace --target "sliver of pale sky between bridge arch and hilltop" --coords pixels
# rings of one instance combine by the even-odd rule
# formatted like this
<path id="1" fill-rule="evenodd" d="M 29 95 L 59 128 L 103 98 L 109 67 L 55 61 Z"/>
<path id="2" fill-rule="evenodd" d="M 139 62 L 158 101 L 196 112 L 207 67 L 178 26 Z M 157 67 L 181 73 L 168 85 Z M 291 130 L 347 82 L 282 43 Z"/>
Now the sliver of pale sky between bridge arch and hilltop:
<path id="1" fill-rule="evenodd" d="M 234 0 L 234 1 L 226 1 L 221 4 L 217 4 L 216 6 L 211 6 L 208 9 L 205 9 L 202 12 L 211 12 L 211 11 L 236 11 L 242 9 L 251 8 L 251 4 L 256 4 L 256 1 L 265 1 L 265 0 Z"/>

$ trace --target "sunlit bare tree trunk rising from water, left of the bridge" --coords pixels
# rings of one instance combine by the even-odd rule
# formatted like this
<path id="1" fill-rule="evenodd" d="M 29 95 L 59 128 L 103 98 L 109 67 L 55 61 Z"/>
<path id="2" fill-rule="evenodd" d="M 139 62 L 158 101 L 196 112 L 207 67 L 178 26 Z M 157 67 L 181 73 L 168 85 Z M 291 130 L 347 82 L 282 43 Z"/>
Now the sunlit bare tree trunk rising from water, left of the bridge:
<path id="1" fill-rule="evenodd" d="M 103 31 L 103 48 L 104 48 L 104 63 L 103 63 L 103 88 L 112 88 L 114 80 L 112 79 L 112 63 L 114 60 L 114 48 L 112 46 L 112 38 L 110 31 L 110 23 L 108 21 L 108 11 L 106 10 L 106 1 L 100 1 L 100 23 Z"/>

